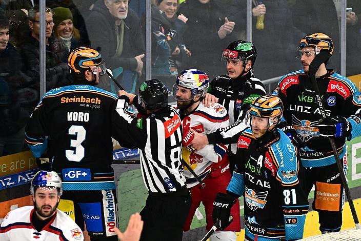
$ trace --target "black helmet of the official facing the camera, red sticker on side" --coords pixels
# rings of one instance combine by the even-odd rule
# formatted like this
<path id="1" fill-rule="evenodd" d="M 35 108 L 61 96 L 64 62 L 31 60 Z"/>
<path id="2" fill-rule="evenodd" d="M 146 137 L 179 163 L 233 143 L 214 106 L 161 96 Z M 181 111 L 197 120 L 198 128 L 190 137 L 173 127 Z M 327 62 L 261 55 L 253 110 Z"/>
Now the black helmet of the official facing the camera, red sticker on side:
<path id="1" fill-rule="evenodd" d="M 252 66 L 256 62 L 257 50 L 252 42 L 237 40 L 228 45 L 228 47 L 223 50 L 222 61 L 227 61 L 227 59 L 240 59 L 243 61 L 243 66 L 246 67 L 248 60 L 252 61 Z"/>

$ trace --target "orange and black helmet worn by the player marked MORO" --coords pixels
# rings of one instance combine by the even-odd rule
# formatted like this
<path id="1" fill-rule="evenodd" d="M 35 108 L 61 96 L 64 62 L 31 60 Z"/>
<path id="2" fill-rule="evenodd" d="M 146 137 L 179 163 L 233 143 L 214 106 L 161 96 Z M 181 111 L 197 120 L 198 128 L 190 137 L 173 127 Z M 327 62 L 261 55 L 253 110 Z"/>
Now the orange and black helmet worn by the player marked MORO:
<path id="1" fill-rule="evenodd" d="M 98 75 L 106 73 L 102 54 L 92 48 L 73 49 L 68 57 L 68 65 L 73 73 L 82 73 L 86 70 L 91 70 Z"/>

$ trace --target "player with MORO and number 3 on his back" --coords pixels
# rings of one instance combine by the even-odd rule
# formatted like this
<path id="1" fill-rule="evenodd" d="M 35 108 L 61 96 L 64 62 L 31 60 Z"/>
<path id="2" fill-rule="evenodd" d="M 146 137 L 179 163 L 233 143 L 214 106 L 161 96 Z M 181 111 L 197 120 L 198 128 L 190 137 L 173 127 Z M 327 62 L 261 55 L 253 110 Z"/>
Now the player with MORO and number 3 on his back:
<path id="1" fill-rule="evenodd" d="M 69 205 L 67 211 L 75 213 L 75 222 L 83 230 L 85 221 L 92 241 L 117 240 L 111 137 L 125 142 L 113 125 L 119 120 L 111 115 L 118 97 L 95 87 L 106 71 L 97 51 L 74 49 L 68 65 L 74 85 L 43 96 L 28 121 L 25 139 L 35 157 L 48 149 L 51 169 L 63 182 L 59 209 Z"/>

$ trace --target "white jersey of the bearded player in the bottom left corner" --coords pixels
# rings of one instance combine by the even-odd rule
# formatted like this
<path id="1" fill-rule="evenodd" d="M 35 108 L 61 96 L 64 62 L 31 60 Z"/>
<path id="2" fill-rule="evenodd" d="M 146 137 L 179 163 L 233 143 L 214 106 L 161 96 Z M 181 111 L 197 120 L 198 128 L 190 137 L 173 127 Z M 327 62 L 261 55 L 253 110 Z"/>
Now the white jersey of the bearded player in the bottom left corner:
<path id="1" fill-rule="evenodd" d="M 56 214 L 43 230 L 37 231 L 31 224 L 33 206 L 25 206 L 10 211 L 0 225 L 0 240 L 60 240 L 82 241 L 82 230 L 64 212 L 56 209 Z"/>

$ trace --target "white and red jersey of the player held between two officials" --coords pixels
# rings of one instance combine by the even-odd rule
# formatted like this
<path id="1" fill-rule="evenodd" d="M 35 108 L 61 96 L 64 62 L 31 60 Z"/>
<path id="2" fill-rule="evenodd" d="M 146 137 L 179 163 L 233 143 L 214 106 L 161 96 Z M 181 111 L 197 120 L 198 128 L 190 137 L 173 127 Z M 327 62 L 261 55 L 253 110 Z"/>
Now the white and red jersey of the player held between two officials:
<path id="1" fill-rule="evenodd" d="M 182 123 L 183 127 L 190 126 L 196 132 L 203 134 L 209 134 L 218 128 L 229 126 L 227 110 L 220 104 L 207 108 L 204 104 L 200 103 L 192 113 L 183 118 Z M 189 151 L 186 147 L 183 147 L 182 157 L 200 179 L 204 179 L 208 175 L 212 164 L 218 163 L 223 159 L 227 152 L 227 147 L 227 145 L 223 144 L 212 144 L 199 151 Z M 184 167 L 183 174 L 186 177 L 187 188 L 198 184 L 186 167 Z"/>

